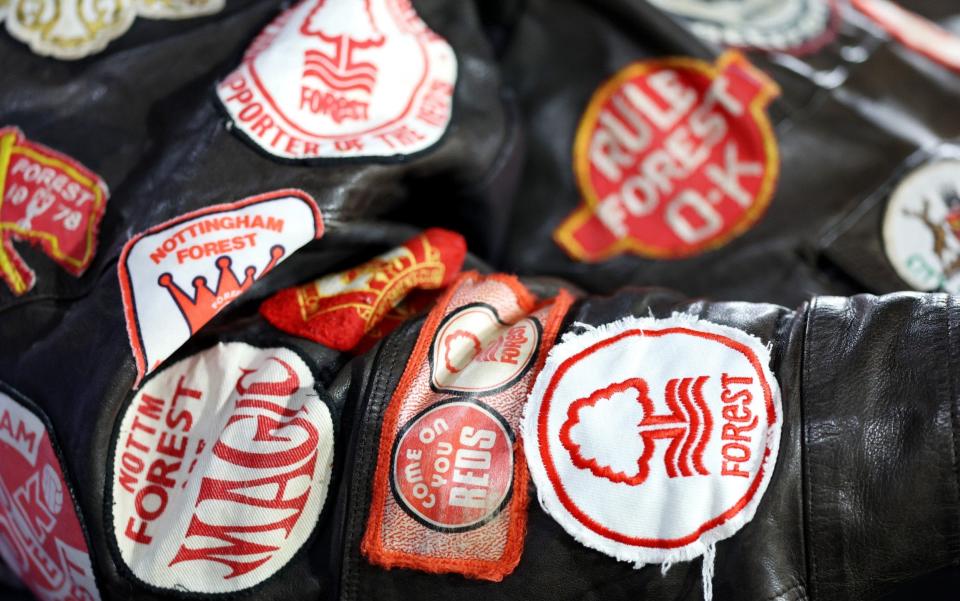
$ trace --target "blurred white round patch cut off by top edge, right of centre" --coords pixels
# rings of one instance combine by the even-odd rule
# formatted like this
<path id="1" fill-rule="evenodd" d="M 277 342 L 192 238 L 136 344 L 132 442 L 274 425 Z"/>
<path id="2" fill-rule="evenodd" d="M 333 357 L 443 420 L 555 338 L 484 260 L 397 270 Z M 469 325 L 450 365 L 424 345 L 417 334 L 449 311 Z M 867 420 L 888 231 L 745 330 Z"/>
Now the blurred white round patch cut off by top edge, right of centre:
<path id="1" fill-rule="evenodd" d="M 833 0 L 651 0 L 715 44 L 793 53 L 812 52 L 832 37 Z"/>

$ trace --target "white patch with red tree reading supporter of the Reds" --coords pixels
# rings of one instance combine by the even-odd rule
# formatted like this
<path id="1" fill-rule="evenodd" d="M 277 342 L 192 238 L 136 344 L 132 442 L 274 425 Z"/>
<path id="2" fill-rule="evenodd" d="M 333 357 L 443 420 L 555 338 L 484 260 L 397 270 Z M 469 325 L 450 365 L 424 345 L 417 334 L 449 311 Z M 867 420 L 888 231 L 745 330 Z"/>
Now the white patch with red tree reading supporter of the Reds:
<path id="1" fill-rule="evenodd" d="M 400 158 L 450 122 L 457 59 L 410 0 L 304 0 L 217 88 L 233 126 L 284 159 Z"/>

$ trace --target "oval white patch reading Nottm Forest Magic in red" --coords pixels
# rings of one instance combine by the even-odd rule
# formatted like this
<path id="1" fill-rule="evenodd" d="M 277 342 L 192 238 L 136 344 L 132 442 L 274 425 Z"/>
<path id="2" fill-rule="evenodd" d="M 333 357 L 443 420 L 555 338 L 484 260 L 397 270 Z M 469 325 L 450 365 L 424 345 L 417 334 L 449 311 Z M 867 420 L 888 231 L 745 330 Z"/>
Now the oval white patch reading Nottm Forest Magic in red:
<path id="1" fill-rule="evenodd" d="M 285 566 L 327 497 L 333 421 L 285 348 L 219 344 L 124 408 L 108 494 L 118 562 L 149 587 L 228 593 Z"/>

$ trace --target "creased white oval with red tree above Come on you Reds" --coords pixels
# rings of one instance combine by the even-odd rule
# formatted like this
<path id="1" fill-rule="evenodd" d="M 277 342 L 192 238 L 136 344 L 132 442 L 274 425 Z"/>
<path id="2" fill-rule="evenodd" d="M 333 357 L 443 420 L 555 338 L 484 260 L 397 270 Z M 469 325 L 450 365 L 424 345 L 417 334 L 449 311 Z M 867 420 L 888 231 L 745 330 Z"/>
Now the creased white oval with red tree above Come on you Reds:
<path id="1" fill-rule="evenodd" d="M 536 360 L 540 322 L 507 324 L 496 308 L 473 303 L 440 324 L 430 348 L 430 386 L 437 392 L 484 395 L 510 386 Z"/>

